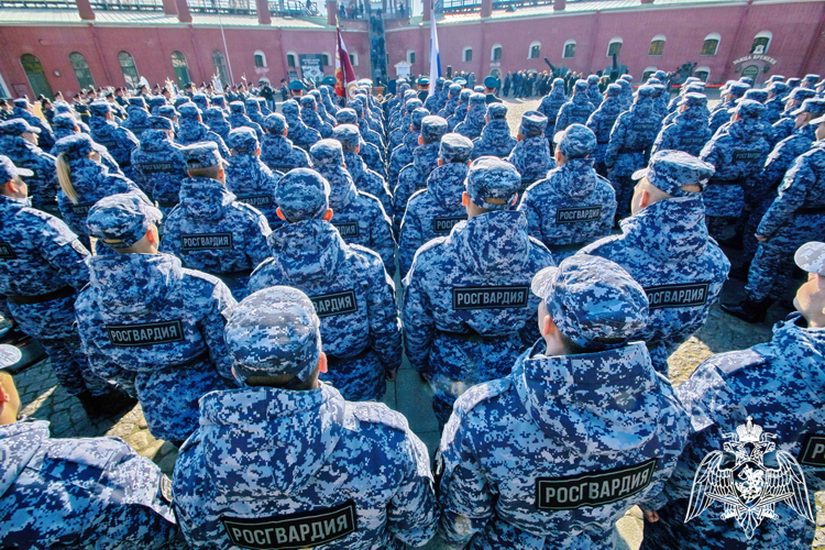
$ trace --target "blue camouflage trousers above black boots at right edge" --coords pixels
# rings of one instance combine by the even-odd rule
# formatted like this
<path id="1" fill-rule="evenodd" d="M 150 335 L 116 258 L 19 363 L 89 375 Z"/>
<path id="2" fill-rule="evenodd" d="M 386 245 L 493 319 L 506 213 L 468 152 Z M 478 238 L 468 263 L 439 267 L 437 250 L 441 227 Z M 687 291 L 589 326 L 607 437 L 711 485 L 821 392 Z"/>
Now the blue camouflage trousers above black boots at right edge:
<path id="1" fill-rule="evenodd" d="M 777 299 L 784 293 L 793 270 L 796 249 L 825 237 L 825 215 L 795 216 L 768 241 L 760 242 L 748 272 L 745 290 L 754 301 Z"/>

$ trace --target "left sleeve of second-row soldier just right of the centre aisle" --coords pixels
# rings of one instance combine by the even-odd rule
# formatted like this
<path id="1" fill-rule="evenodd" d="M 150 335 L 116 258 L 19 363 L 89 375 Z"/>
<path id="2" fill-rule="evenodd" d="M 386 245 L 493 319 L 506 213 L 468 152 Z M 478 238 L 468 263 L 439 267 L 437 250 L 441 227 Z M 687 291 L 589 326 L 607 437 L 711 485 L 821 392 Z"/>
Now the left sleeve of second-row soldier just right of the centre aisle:
<path id="1" fill-rule="evenodd" d="M 402 306 L 402 327 L 404 328 L 404 349 L 407 351 L 413 369 L 426 373 L 430 345 L 436 332 L 436 321 L 427 293 L 421 285 L 421 277 L 416 273 L 418 257 L 413 260 L 413 267 L 404 279 L 404 299 Z"/>

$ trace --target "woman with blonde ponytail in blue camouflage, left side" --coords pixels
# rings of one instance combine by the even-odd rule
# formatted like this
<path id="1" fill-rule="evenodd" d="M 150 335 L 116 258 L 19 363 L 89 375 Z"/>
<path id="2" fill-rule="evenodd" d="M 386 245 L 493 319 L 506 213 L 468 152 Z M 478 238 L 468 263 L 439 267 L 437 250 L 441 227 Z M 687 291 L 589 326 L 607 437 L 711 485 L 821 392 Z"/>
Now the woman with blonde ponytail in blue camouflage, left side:
<path id="1" fill-rule="evenodd" d="M 95 147 L 88 134 L 69 135 L 55 143 L 55 163 L 61 182 L 57 193 L 61 217 L 72 231 L 80 235 L 80 242 L 88 250 L 91 250 L 91 241 L 86 228 L 86 215 L 95 202 L 120 193 L 136 193 L 145 198 L 131 179 L 109 173 L 109 168 L 100 163 Z"/>

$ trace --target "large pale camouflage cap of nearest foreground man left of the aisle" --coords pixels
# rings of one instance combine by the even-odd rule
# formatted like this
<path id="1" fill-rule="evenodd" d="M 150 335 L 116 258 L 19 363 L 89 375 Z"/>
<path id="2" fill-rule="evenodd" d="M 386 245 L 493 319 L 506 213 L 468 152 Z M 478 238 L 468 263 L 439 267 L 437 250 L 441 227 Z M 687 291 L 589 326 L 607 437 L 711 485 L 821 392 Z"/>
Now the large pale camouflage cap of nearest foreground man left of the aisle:
<path id="1" fill-rule="evenodd" d="M 272 286 L 223 315 L 223 340 L 241 377 L 292 374 L 305 382 L 315 372 L 321 356 L 321 322 L 306 294 Z"/>

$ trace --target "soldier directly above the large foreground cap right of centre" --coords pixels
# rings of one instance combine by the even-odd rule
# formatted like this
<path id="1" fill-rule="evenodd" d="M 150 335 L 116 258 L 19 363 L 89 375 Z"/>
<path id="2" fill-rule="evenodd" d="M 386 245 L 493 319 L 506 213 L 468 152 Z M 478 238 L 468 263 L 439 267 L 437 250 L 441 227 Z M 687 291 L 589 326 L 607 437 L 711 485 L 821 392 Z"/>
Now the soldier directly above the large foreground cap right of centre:
<path id="1" fill-rule="evenodd" d="M 556 141 L 556 168 L 527 188 L 518 209 L 527 217 L 530 235 L 561 262 L 610 234 L 616 193 L 593 169 L 596 136 L 587 127 L 571 124 Z"/>

